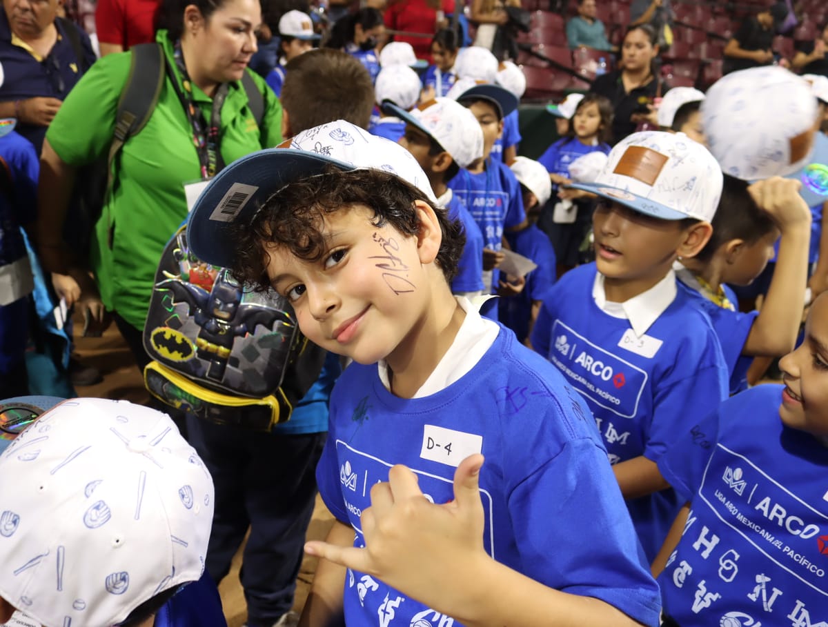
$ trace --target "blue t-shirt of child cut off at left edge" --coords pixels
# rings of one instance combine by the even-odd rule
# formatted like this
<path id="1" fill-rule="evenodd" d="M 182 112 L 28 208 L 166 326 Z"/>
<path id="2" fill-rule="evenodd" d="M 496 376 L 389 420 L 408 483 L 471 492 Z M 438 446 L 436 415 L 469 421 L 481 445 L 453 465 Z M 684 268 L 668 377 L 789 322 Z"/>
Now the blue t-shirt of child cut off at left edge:
<path id="1" fill-rule="evenodd" d="M 14 131 L 0 137 L 0 159 L 6 168 L 0 185 L 0 266 L 6 266 L 26 256 L 20 227 L 37 219 L 40 161 L 31 141 Z"/>

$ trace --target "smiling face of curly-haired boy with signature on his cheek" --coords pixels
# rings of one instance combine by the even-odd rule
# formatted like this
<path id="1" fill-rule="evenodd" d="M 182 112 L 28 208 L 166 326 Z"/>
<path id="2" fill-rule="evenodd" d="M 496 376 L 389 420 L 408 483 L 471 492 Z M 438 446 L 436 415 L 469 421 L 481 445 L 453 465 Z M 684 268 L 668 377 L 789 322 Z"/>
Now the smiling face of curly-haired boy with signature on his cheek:
<path id="1" fill-rule="evenodd" d="M 405 343 L 430 294 L 420 239 L 390 224 L 375 227 L 372 217 L 363 205 L 325 216 L 320 261 L 275 245 L 265 249 L 267 276 L 291 301 L 302 333 L 361 364 L 386 359 Z"/>

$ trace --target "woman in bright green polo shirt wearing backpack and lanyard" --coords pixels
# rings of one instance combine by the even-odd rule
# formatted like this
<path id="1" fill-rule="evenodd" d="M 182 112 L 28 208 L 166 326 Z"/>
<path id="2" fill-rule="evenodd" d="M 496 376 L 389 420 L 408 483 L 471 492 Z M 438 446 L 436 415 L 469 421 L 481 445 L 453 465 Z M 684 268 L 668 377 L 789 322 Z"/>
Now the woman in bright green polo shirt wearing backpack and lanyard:
<path id="1" fill-rule="evenodd" d="M 253 74 L 264 99 L 257 124 L 241 84 L 262 23 L 258 0 L 167 0 L 164 7 L 167 29 L 156 41 L 166 78 L 147 126 L 118 157 L 113 193 L 92 236 L 94 283 L 66 254 L 61 232 L 77 168 L 108 154 L 129 52 L 96 62 L 66 98 L 46 134 L 38 190 L 39 245 L 44 265 L 57 273 L 55 287 L 93 318 L 103 319 L 104 308 L 112 312 L 141 368 L 148 361 L 142 329 L 153 278 L 161 251 L 187 215 L 185 186 L 282 141 L 275 94 Z"/>

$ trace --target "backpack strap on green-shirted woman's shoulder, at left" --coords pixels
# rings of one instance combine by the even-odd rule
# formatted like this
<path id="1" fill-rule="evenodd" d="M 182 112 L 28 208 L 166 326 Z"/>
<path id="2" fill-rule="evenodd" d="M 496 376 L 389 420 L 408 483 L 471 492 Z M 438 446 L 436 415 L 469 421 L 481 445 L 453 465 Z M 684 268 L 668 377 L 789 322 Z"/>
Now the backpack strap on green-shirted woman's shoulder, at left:
<path id="1" fill-rule="evenodd" d="M 141 132 L 155 110 L 161 87 L 164 85 L 166 66 L 164 51 L 156 43 L 133 45 L 129 49 L 132 60 L 129 76 L 118 100 L 115 116 L 115 132 L 109 146 L 107 160 L 107 193 L 113 185 L 113 162 L 126 141 Z"/>

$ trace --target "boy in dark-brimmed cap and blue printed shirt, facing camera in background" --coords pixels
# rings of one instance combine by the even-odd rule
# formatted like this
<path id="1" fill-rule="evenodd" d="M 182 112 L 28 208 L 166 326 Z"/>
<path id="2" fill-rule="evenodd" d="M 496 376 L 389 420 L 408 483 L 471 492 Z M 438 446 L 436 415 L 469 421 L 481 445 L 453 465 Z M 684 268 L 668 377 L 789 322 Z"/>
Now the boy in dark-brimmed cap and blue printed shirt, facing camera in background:
<path id="1" fill-rule="evenodd" d="M 484 293 L 497 290 L 498 264 L 503 259 L 503 232 L 519 227 L 526 220 L 520 184 L 502 161 L 489 159 L 494 141 L 503 133 L 503 118 L 517 107 L 517 98 L 506 89 L 483 84 L 465 90 L 457 102 L 469 108 L 483 129 L 483 158 L 451 179 L 449 187 L 457 195 L 480 227 L 484 238 Z M 497 319 L 495 301 L 486 315 Z"/>

